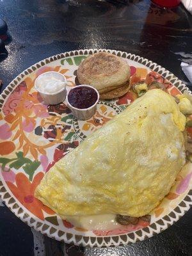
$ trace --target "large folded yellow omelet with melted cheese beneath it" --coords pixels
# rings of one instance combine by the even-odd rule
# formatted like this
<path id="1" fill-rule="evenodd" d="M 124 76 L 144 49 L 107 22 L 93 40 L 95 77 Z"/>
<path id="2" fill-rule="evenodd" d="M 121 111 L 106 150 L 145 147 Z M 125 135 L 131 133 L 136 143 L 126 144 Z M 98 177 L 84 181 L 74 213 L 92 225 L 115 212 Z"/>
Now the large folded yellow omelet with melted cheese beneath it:
<path id="1" fill-rule="evenodd" d="M 148 214 L 185 163 L 185 124 L 172 96 L 150 90 L 54 164 L 36 198 L 63 217 Z"/>

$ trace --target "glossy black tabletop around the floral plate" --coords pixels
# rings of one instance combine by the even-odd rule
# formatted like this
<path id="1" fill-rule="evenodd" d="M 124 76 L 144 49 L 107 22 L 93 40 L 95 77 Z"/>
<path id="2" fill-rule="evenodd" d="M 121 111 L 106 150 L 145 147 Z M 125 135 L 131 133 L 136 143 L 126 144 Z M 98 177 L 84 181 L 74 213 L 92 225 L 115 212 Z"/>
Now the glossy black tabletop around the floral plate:
<path id="1" fill-rule="evenodd" d="M 122 2 L 122 3 L 118 3 Z M 150 1 L 1 0 L 7 58 L 1 58 L 5 88 L 32 64 L 75 49 L 106 48 L 138 54 L 170 70 L 190 86 L 180 61 L 192 59 L 192 16 L 182 4 L 158 8 Z M 145 241 L 118 248 L 78 248 L 44 237 L 0 202 L 0 256 L 192 255 L 192 209 Z"/>

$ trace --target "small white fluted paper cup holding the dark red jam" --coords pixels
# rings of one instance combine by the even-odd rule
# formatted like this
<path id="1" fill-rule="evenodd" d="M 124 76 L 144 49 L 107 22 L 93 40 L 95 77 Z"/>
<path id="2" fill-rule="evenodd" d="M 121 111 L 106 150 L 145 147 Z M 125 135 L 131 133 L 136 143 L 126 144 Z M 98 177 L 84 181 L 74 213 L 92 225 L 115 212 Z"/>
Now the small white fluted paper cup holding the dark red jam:
<path id="1" fill-rule="evenodd" d="M 92 88 L 93 90 L 95 90 L 95 92 L 97 93 L 97 100 L 95 101 L 95 103 L 90 106 L 89 108 L 75 108 L 74 106 L 72 106 L 70 104 L 70 102 L 68 102 L 68 93 L 71 91 L 71 90 L 74 90 L 76 87 L 90 87 Z M 97 109 L 97 103 L 99 101 L 99 92 L 93 88 L 92 86 L 90 85 L 86 85 L 86 84 L 81 84 L 81 85 L 78 85 L 78 86 L 75 86 L 73 88 L 70 89 L 70 91 L 67 93 L 67 97 L 66 97 L 66 101 L 67 101 L 67 105 L 68 105 L 68 108 L 70 108 L 70 110 L 72 111 L 72 113 L 74 114 L 74 116 L 76 116 L 77 119 L 80 119 L 80 120 L 88 120 L 90 119 L 93 115 L 95 115 L 95 112 L 96 112 L 96 109 Z"/>

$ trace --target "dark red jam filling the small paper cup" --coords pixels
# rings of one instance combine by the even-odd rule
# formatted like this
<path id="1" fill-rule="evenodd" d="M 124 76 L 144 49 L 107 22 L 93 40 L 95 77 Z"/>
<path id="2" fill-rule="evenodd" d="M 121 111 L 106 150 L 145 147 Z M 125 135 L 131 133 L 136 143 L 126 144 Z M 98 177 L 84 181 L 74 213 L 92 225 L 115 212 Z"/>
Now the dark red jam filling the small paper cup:
<path id="1" fill-rule="evenodd" d="M 90 108 L 95 104 L 97 99 L 97 92 L 88 86 L 77 86 L 68 93 L 68 102 L 71 106 L 78 109 Z"/>

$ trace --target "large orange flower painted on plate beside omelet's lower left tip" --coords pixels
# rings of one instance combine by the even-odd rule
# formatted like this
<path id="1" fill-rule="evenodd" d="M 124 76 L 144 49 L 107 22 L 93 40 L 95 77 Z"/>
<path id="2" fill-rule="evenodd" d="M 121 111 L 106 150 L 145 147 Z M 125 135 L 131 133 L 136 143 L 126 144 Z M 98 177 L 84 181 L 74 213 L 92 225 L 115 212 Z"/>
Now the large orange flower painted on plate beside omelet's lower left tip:
<path id="1" fill-rule="evenodd" d="M 42 180 L 43 177 L 44 173 L 37 173 L 33 181 L 30 182 L 24 173 L 17 173 L 15 177 L 16 186 L 12 182 L 6 182 L 19 202 L 40 220 L 44 220 L 43 211 L 49 214 L 54 214 L 54 211 L 42 204 L 42 202 L 34 196 L 36 186 L 40 184 L 40 180 Z"/>

